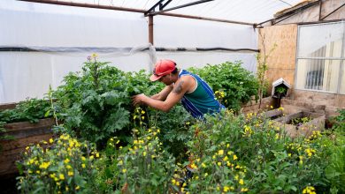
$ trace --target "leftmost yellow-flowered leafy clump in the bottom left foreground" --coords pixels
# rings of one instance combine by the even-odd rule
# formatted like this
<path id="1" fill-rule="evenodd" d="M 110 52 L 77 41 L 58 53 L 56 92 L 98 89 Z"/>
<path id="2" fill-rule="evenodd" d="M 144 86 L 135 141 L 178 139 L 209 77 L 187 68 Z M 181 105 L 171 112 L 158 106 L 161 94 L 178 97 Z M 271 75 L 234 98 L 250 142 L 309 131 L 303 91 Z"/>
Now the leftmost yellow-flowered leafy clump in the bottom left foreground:
<path id="1" fill-rule="evenodd" d="M 50 142 L 27 146 L 22 162 L 18 189 L 22 193 L 76 193 L 94 190 L 94 146 L 63 134 Z"/>

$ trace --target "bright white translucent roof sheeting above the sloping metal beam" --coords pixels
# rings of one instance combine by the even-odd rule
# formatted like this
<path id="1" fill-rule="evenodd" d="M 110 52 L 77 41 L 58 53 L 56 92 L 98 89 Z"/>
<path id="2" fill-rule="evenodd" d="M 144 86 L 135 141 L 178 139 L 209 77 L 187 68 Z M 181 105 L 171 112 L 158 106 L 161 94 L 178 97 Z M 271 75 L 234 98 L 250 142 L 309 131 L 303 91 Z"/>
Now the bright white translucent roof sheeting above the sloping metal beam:
<path id="1" fill-rule="evenodd" d="M 25 1 L 25 0 L 24 0 Z M 33 2 L 51 2 L 51 4 L 93 4 L 135 11 L 149 11 L 155 4 L 154 13 L 181 14 L 209 19 L 223 19 L 243 23 L 260 23 L 273 19 L 277 11 L 289 9 L 301 0 L 27 0 Z M 162 6 L 163 5 L 163 6 Z M 188 5 L 188 6 L 185 6 Z M 175 9 L 176 8 L 176 9 Z"/>

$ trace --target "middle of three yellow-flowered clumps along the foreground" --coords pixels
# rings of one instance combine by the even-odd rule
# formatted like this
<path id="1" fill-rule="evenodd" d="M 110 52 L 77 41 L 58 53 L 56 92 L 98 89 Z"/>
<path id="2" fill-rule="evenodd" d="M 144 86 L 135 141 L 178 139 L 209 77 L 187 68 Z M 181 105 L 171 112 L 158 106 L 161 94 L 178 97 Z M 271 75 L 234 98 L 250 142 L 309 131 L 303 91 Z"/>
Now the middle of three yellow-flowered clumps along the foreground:
<path id="1" fill-rule="evenodd" d="M 134 141 L 119 146 L 118 138 L 111 138 L 98 163 L 100 173 L 97 192 L 166 193 L 175 169 L 174 159 L 162 149 L 157 135 L 159 129 L 134 130 Z"/>

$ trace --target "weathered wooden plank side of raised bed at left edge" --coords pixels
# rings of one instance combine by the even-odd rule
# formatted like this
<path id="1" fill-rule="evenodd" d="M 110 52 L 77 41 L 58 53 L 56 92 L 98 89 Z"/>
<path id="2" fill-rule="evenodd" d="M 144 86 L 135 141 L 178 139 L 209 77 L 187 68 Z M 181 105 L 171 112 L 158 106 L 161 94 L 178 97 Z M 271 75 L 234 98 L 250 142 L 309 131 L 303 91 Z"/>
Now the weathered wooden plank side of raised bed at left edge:
<path id="1" fill-rule="evenodd" d="M 51 131 L 53 125 L 54 120 L 51 118 L 41 119 L 38 123 L 5 124 L 6 132 L 0 135 L 9 135 L 13 139 L 0 141 L 0 176 L 17 173 L 15 161 L 20 159 L 21 153 L 28 145 L 42 140 L 48 141 L 53 135 Z"/>

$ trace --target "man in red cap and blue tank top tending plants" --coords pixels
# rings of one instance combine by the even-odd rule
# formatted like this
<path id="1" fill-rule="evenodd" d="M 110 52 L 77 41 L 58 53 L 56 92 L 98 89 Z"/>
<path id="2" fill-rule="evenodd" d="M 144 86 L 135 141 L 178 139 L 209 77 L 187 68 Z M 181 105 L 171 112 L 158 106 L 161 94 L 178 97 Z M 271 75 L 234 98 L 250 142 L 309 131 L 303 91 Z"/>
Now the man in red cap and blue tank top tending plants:
<path id="1" fill-rule="evenodd" d="M 160 60 L 156 63 L 151 81 L 160 81 L 165 88 L 151 97 L 145 94 L 133 96 L 133 104 L 146 104 L 168 112 L 181 101 L 184 108 L 196 118 L 203 118 L 204 114 L 218 113 L 222 104 L 215 99 L 214 93 L 202 78 L 186 70 L 176 68 L 172 60 Z"/>

